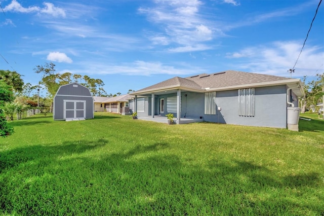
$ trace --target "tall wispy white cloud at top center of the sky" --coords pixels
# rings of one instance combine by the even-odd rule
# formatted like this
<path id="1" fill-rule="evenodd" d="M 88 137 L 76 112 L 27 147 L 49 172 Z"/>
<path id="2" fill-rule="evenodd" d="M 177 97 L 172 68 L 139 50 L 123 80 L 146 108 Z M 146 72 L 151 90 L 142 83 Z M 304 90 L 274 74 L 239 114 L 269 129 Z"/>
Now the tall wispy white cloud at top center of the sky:
<path id="1" fill-rule="evenodd" d="M 169 51 L 176 52 L 210 49 L 206 45 L 196 49 L 197 44 L 214 38 L 210 21 L 199 14 L 202 2 L 198 0 L 156 0 L 155 3 L 155 7 L 139 9 L 139 12 L 147 15 L 149 21 L 163 27 L 161 32 L 156 33 L 159 35 L 158 38 L 150 37 L 153 45 L 178 44 L 179 48 L 169 49 Z"/>

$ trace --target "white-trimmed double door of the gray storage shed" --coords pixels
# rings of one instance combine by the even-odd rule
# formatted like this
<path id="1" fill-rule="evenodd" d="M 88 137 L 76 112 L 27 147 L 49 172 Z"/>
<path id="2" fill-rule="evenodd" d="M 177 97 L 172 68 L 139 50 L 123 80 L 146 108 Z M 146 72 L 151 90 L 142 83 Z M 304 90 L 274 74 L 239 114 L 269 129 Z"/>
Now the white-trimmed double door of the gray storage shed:
<path id="1" fill-rule="evenodd" d="M 85 100 L 64 100 L 64 119 L 86 117 Z"/>

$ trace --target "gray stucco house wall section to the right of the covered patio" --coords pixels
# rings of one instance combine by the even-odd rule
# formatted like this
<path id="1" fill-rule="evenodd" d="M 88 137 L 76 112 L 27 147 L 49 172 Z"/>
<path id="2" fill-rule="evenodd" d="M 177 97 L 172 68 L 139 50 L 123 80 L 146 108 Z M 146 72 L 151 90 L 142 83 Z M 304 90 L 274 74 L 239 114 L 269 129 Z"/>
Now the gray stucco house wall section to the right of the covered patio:
<path id="1" fill-rule="evenodd" d="M 217 92 L 216 104 L 221 110 L 217 110 L 216 115 L 204 115 L 205 121 L 247 126 L 286 128 L 286 86 L 255 88 L 254 117 L 238 115 L 237 90 Z"/>

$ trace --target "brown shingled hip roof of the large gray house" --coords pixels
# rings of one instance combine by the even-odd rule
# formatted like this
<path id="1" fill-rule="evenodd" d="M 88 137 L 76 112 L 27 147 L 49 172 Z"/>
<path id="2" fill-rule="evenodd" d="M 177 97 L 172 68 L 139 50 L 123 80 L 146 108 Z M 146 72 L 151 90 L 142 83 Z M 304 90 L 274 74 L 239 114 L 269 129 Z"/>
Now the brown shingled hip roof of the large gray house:
<path id="1" fill-rule="evenodd" d="M 213 74 L 200 74 L 187 78 L 174 77 L 169 80 L 135 91 L 132 93 L 132 95 L 154 93 L 157 91 L 172 89 L 206 92 L 285 84 L 289 87 L 294 87 L 294 91 L 297 92 L 298 96 L 303 96 L 304 93 L 301 87 L 300 79 L 247 73 L 235 70 L 226 70 Z"/>

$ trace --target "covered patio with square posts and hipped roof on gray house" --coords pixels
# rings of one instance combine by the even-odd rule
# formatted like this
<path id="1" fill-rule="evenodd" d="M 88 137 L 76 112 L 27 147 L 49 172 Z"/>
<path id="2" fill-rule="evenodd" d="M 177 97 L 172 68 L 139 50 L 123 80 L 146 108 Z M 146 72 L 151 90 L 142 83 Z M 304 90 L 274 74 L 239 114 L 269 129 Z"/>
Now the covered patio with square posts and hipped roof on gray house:
<path id="1" fill-rule="evenodd" d="M 189 104 L 193 100 L 187 104 L 187 95 L 204 92 L 205 89 L 195 82 L 175 77 L 133 92 L 131 95 L 134 96 L 134 111 L 138 119 L 167 123 L 165 115 L 172 113 L 175 124 L 187 124 L 204 121 L 203 118 L 199 118 L 203 116 L 200 110 L 194 112 L 196 106 Z M 187 107 L 192 107 L 191 113 Z"/>

